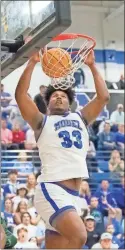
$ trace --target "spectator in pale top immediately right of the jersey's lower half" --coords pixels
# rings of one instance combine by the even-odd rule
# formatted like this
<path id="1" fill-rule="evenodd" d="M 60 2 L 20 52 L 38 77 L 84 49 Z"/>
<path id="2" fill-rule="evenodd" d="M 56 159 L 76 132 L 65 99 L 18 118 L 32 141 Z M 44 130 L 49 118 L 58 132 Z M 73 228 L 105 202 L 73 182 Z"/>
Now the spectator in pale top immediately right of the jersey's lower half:
<path id="1" fill-rule="evenodd" d="M 87 152 L 86 160 L 87 160 L 88 171 L 90 173 L 98 172 L 97 161 L 96 161 L 96 150 L 94 143 L 92 141 L 89 142 L 89 150 Z"/>

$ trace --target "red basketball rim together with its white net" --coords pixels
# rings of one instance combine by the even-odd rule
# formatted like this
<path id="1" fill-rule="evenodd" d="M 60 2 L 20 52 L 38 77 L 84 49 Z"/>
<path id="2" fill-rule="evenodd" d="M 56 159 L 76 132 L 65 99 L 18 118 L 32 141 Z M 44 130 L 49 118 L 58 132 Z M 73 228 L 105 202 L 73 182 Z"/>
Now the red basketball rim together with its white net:
<path id="1" fill-rule="evenodd" d="M 68 52 L 72 58 L 72 67 L 68 74 L 65 77 L 53 77 L 51 78 L 51 85 L 55 89 L 66 90 L 75 83 L 74 73 L 79 69 L 82 64 L 84 64 L 86 57 L 90 53 L 90 51 L 95 47 L 96 41 L 87 35 L 75 34 L 75 33 L 67 33 L 60 34 L 52 39 L 52 42 L 56 42 L 56 48 L 64 48 L 64 41 L 72 40 L 71 45 L 66 49 L 66 53 Z M 76 48 L 79 48 L 76 50 Z M 48 51 L 48 47 L 44 48 L 44 53 Z M 40 52 L 40 58 L 42 58 L 43 51 Z M 61 61 L 61 57 L 59 58 Z M 41 60 L 42 63 L 42 60 Z M 68 67 L 68 65 L 66 65 Z M 57 72 L 55 72 L 57 73 Z M 56 74 L 55 74 L 56 75 Z"/>

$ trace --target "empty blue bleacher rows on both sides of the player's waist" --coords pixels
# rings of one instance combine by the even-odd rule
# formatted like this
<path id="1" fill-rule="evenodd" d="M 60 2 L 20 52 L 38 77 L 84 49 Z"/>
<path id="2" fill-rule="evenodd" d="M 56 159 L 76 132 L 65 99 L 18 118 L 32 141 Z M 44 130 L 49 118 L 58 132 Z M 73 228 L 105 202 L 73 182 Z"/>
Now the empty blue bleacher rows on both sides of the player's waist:
<path id="1" fill-rule="evenodd" d="M 32 162 L 33 164 L 33 172 L 37 173 L 41 168 L 41 161 L 39 158 L 38 150 L 23 150 L 27 153 L 27 161 Z M 20 170 L 18 168 L 18 162 L 19 159 L 18 153 L 20 150 L 7 150 L 1 152 L 1 179 L 2 179 L 2 185 L 4 185 L 7 181 L 7 175 L 8 172 L 14 168 L 14 163 L 16 162 L 17 170 Z M 108 153 L 108 151 L 107 151 Z M 88 182 L 90 184 L 90 188 L 92 192 L 95 192 L 99 183 L 106 179 L 108 180 L 113 186 L 117 189 L 120 185 L 120 178 L 113 177 L 112 173 L 109 172 L 108 169 L 108 161 L 107 157 L 103 155 L 103 151 L 100 151 L 99 154 L 96 154 L 96 160 L 97 160 L 97 167 L 96 169 L 98 172 L 94 171 L 94 166 L 92 166 L 92 171 L 89 171 L 89 179 Z M 89 160 L 90 164 L 93 164 L 93 160 Z M 23 162 L 22 162 L 23 164 Z M 84 167 L 84 166 L 83 166 Z M 21 167 L 23 168 L 23 167 Z M 19 177 L 18 181 L 26 182 L 25 177 Z"/>

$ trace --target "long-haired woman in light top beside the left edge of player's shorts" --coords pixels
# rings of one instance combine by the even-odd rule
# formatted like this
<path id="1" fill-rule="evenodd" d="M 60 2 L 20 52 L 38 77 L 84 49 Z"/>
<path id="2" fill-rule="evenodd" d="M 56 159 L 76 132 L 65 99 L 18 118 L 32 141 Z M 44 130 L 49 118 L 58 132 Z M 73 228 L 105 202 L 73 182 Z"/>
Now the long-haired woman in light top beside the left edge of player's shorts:
<path id="1" fill-rule="evenodd" d="M 36 187 L 37 181 L 36 181 L 36 176 L 35 174 L 29 174 L 28 178 L 27 178 L 27 197 L 29 199 L 29 203 L 32 204 L 33 198 L 34 198 L 34 194 L 35 194 L 35 187 Z"/>

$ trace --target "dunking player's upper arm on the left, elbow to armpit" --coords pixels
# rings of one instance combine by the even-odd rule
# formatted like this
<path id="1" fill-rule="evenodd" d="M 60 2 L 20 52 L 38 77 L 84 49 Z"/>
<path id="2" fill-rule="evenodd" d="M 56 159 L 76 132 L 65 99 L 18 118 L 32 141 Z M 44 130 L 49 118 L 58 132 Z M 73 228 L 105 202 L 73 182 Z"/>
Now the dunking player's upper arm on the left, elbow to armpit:
<path id="1" fill-rule="evenodd" d="M 34 131 L 37 130 L 39 124 L 42 124 L 44 115 L 39 112 L 36 104 L 27 94 L 15 94 L 15 98 L 24 120 L 29 123 Z"/>

